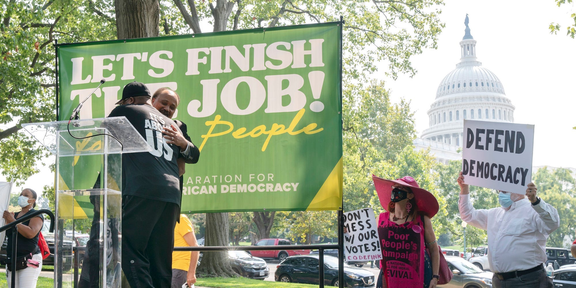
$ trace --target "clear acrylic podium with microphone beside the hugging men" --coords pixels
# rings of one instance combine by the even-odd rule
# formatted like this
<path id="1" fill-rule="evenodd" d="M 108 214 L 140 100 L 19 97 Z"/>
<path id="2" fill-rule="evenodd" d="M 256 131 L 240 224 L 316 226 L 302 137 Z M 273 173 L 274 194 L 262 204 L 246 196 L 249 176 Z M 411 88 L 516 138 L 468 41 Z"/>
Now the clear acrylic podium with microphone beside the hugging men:
<path id="1" fill-rule="evenodd" d="M 121 282 L 122 153 L 150 151 L 150 147 L 125 117 L 68 124 L 22 124 L 56 155 L 54 287 L 89 283 L 117 288 Z"/>

